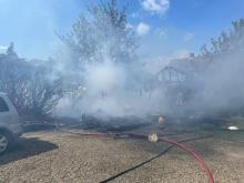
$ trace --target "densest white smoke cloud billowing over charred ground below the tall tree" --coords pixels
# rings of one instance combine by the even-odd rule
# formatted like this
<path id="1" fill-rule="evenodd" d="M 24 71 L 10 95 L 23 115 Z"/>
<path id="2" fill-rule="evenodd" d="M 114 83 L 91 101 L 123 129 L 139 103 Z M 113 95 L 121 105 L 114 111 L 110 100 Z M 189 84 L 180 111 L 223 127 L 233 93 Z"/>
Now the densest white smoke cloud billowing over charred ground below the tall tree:
<path id="1" fill-rule="evenodd" d="M 134 67 L 131 64 L 131 67 Z M 145 78 L 140 81 L 128 65 L 110 60 L 85 67 L 85 77 L 77 94 L 68 93 L 57 106 L 59 115 L 79 116 L 81 113 L 104 113 L 112 116 L 145 115 L 160 112 L 164 105 L 161 89 L 148 89 Z M 136 77 L 135 77 L 136 75 Z"/>

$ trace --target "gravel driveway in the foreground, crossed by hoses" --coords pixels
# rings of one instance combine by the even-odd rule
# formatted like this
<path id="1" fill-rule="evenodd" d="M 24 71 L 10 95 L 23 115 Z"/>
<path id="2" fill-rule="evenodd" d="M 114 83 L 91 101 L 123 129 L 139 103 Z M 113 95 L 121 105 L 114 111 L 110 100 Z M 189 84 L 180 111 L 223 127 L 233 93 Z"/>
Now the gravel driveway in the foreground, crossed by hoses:
<path id="1" fill-rule="evenodd" d="M 214 136 L 192 140 L 187 144 L 202 154 L 216 182 L 242 183 L 244 180 L 242 133 L 195 131 L 177 133 L 174 138 L 183 140 L 210 134 Z M 52 131 L 31 132 L 21 138 L 18 150 L 0 157 L 0 180 L 1 182 L 101 182 L 149 160 L 167 146 L 166 143 L 150 143 L 142 140 L 84 138 Z M 185 183 L 207 182 L 196 167 L 196 163 L 184 151 L 173 148 L 113 182 L 176 183 L 179 180 Z"/>

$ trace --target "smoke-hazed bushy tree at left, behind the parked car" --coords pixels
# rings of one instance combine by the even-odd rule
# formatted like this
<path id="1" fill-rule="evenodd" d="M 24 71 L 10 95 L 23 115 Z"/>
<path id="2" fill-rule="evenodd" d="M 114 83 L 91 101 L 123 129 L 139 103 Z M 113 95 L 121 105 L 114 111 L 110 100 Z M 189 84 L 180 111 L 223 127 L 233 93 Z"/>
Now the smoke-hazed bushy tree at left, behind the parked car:
<path id="1" fill-rule="evenodd" d="M 0 91 L 8 93 L 24 115 L 48 115 L 60 99 L 58 80 L 50 81 L 47 73 L 48 70 L 19 59 L 13 44 L 0 54 Z"/>

